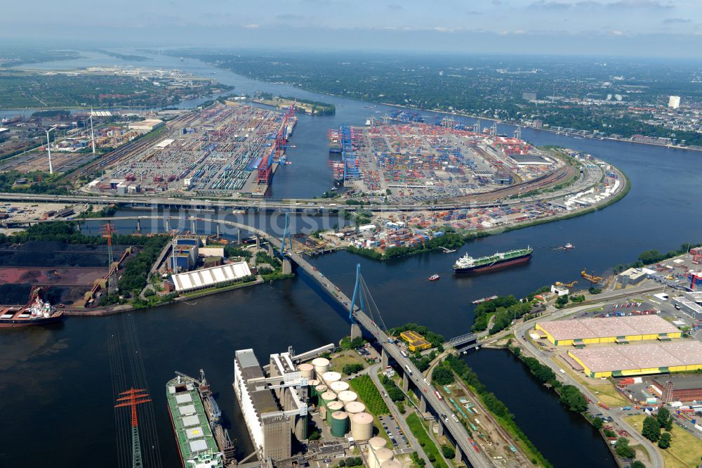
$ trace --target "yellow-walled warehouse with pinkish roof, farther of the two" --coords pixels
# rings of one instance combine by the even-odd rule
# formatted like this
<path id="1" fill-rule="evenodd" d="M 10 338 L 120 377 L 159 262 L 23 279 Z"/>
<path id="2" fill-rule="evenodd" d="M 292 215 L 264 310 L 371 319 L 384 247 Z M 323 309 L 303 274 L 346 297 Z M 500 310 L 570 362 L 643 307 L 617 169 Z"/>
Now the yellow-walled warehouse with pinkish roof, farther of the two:
<path id="1" fill-rule="evenodd" d="M 551 320 L 536 324 L 555 346 L 640 342 L 680 338 L 682 332 L 656 315 Z"/>

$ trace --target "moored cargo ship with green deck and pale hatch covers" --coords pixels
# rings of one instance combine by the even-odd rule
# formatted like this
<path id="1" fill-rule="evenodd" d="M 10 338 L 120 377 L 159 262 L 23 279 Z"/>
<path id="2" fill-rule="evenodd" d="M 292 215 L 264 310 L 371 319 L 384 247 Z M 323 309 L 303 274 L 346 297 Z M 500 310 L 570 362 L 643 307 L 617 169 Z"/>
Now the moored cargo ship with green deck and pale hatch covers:
<path id="1" fill-rule="evenodd" d="M 222 427 L 222 412 L 204 372 L 200 379 L 176 372 L 166 384 L 168 415 L 184 468 L 223 468 L 236 464 L 236 449 Z"/>

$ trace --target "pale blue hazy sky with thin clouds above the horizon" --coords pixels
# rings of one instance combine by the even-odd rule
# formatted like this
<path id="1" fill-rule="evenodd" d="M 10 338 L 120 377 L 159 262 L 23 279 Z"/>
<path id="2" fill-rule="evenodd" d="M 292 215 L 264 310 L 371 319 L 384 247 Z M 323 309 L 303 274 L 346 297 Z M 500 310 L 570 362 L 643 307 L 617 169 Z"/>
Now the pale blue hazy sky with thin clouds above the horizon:
<path id="1" fill-rule="evenodd" d="M 702 58 L 702 0 L 3 3 L 4 41 Z"/>

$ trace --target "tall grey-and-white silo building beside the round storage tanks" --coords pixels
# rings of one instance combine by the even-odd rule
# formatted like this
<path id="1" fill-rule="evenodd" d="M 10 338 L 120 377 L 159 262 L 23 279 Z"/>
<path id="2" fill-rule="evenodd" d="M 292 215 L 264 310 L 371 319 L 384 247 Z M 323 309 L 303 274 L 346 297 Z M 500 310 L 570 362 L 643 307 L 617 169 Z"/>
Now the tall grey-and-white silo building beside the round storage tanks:
<path id="1" fill-rule="evenodd" d="M 266 377 L 253 349 L 236 351 L 234 393 L 260 460 L 289 459 L 293 434 L 307 438 L 307 384 L 290 353 L 271 354 Z"/>

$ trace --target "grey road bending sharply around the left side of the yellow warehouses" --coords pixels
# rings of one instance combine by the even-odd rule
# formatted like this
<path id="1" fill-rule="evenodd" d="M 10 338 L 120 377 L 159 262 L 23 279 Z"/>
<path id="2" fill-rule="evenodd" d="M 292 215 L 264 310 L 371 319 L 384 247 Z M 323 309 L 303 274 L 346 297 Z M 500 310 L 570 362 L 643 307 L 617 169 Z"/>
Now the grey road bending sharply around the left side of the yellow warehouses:
<path id="1" fill-rule="evenodd" d="M 638 292 L 634 292 L 635 288 L 632 288 L 632 290 L 627 290 L 627 294 L 622 294 L 619 292 L 618 294 L 613 294 L 614 296 L 630 296 L 632 293 L 637 294 Z M 604 293 L 603 293 L 604 294 Z M 598 401 L 598 398 L 595 394 L 593 394 L 586 386 L 578 382 L 578 380 L 574 379 L 574 377 L 571 377 L 568 373 L 563 375 L 561 372 L 559 372 L 559 366 L 553 362 L 550 359 L 550 356 L 545 353 L 544 351 L 541 351 L 538 349 L 536 346 L 531 344 L 529 340 L 526 339 L 526 334 L 529 332 L 531 327 L 534 326 L 534 322 L 536 320 L 543 322 L 547 320 L 555 320 L 556 318 L 563 318 L 564 316 L 573 314 L 573 313 L 578 313 L 581 311 L 588 310 L 589 308 L 592 308 L 592 304 L 586 304 L 584 306 L 579 306 L 576 308 L 570 308 L 567 309 L 566 311 L 558 311 L 556 313 L 552 313 L 550 316 L 545 317 L 541 316 L 538 319 L 534 320 L 529 320 L 528 322 L 524 322 L 521 325 L 518 325 L 517 328 L 514 330 L 515 332 L 515 339 L 517 339 L 517 342 L 522 345 L 522 349 L 526 349 L 532 356 L 537 358 L 541 363 L 548 365 L 553 372 L 555 372 L 557 378 L 561 381 L 564 381 L 564 383 L 569 384 L 569 385 L 574 385 L 580 390 L 583 395 L 585 395 L 587 398 L 590 399 L 593 403 L 590 403 L 590 410 L 594 413 L 597 414 L 598 412 L 601 412 L 605 416 L 610 416 L 622 429 L 627 429 L 628 433 L 630 434 L 631 438 L 634 439 L 635 442 L 640 443 L 644 450 L 647 451 L 649 455 L 649 460 L 651 460 L 651 467 L 652 468 L 663 468 L 664 467 L 664 462 L 663 462 L 663 457 L 661 456 L 661 453 L 656 450 L 654 445 L 647 439 L 644 438 L 639 432 L 634 429 L 633 427 L 630 427 L 624 420 L 622 419 L 623 412 L 616 410 L 616 408 L 612 408 L 610 410 L 606 410 L 604 408 L 601 408 L 598 406 L 595 402 Z"/>

